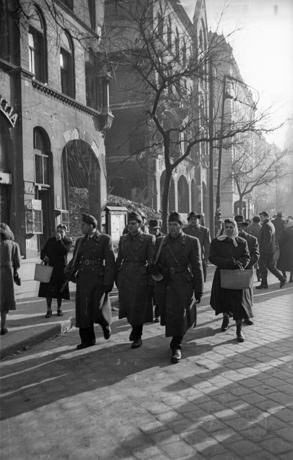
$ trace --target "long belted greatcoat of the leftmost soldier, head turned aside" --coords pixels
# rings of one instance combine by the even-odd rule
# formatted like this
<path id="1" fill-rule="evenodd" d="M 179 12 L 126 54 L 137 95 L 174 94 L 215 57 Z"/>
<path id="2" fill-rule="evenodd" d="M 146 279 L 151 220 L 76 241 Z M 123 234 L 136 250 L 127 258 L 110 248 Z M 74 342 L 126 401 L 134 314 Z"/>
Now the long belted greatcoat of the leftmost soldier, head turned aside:
<path id="1" fill-rule="evenodd" d="M 79 243 L 76 240 L 73 258 Z M 65 269 L 71 270 L 72 260 Z M 78 281 L 75 294 L 75 318 L 77 328 L 89 328 L 100 322 L 100 301 L 103 297 L 103 284 L 113 288 L 115 280 L 115 255 L 111 237 L 96 232 L 92 238 L 82 237 L 77 254 Z M 103 264 L 104 262 L 104 264 Z"/>

